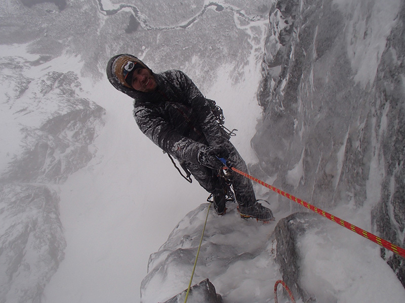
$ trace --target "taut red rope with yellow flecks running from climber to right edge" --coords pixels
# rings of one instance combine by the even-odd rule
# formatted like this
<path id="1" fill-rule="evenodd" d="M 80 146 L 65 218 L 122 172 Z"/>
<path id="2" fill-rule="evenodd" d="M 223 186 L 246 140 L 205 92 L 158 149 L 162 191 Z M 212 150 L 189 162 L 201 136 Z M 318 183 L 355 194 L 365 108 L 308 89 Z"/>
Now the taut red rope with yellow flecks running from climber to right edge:
<path id="1" fill-rule="evenodd" d="M 369 239 L 369 240 L 371 240 L 371 241 L 373 241 L 373 242 L 375 242 L 375 243 L 377 243 L 377 244 L 379 244 L 379 245 L 381 245 L 381 246 L 395 252 L 395 254 L 401 256 L 402 258 L 405 258 L 405 249 L 403 249 L 403 248 L 401 248 L 401 247 L 399 247 L 399 246 L 397 246 L 395 244 L 392 244 L 391 242 L 388 242 L 387 240 L 384 240 L 384 239 L 382 239 L 380 237 L 377 237 L 376 235 L 374 235 L 374 234 L 372 234 L 372 233 L 370 233 L 370 232 L 368 232 L 366 230 L 363 230 L 363 229 L 361 229 L 361 228 L 359 228 L 359 227 L 357 227 L 357 226 L 355 226 L 355 225 L 353 225 L 353 224 L 351 224 L 349 222 L 346 222 L 346 221 L 344 221 L 344 220 L 342 220 L 342 219 L 340 219 L 340 218 L 338 218 L 338 217 L 336 217 L 334 215 L 331 215 L 331 214 L 329 214 L 329 213 L 327 213 L 325 211 L 322 211 L 321 209 L 318 209 L 317 207 L 314 207 L 313 205 L 310 205 L 309 203 L 307 203 L 307 202 L 305 202 L 305 201 L 303 201 L 303 200 L 301 200 L 301 199 L 299 199 L 299 198 L 297 198 L 297 197 L 295 197 L 295 196 L 293 196 L 293 195 L 291 195 L 291 194 L 289 194 L 289 193 L 287 193 L 285 191 L 282 191 L 280 189 L 275 188 L 274 186 L 271 186 L 271 185 L 269 185 L 269 184 L 267 184 L 267 183 L 265 183 L 263 181 L 260 181 L 259 179 L 256 179 L 256 178 L 252 177 L 251 175 L 248 175 L 247 173 L 244 173 L 244 172 L 242 172 L 242 171 L 240 171 L 240 170 L 238 170 L 238 169 L 236 169 L 234 167 L 231 167 L 231 170 L 233 170 L 234 172 L 236 172 L 236 173 L 238 173 L 238 174 L 240 174 L 242 176 L 245 176 L 245 177 L 247 177 L 247 178 L 249 178 L 249 179 L 251 179 L 251 180 L 253 180 L 253 181 L 255 181 L 255 182 L 257 182 L 257 183 L 259 183 L 259 184 L 261 184 L 261 185 L 263 185 L 263 186 L 265 186 L 265 187 L 267 187 L 267 188 L 269 188 L 269 189 L 271 189 L 273 191 L 275 191 L 276 193 L 278 193 L 280 195 L 285 196 L 286 198 L 289 198 L 290 200 L 293 200 L 293 201 L 297 202 L 298 204 L 301 204 L 302 206 L 310 209 L 311 211 L 313 211 L 315 213 L 318 213 L 319 215 L 321 215 L 323 217 L 326 217 L 329 220 L 331 220 L 331 221 L 333 221 L 333 222 L 335 222 L 335 223 L 337 223 L 339 225 L 342 225 L 342 226 L 346 227 L 347 229 L 350 229 L 351 231 L 354 231 L 354 232 L 358 233 L 360 236 L 363 236 L 363 237 L 365 237 L 365 238 L 367 238 L 367 239 Z"/>

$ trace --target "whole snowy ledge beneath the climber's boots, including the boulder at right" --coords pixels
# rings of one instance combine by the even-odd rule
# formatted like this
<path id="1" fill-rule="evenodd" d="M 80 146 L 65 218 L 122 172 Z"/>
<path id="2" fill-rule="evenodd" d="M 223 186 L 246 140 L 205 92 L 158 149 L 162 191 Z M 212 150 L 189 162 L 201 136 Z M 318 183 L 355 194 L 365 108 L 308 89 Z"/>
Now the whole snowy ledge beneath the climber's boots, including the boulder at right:
<path id="1" fill-rule="evenodd" d="M 184 294 L 207 207 L 188 213 L 150 256 L 142 303 L 176 302 Z M 368 239 L 316 214 L 294 213 L 263 224 L 241 219 L 235 204 L 227 207 L 222 217 L 210 210 L 193 278 L 212 281 L 223 302 L 273 302 L 280 279 L 301 303 L 403 302 L 405 289 Z M 278 299 L 289 301 L 280 290 Z"/>

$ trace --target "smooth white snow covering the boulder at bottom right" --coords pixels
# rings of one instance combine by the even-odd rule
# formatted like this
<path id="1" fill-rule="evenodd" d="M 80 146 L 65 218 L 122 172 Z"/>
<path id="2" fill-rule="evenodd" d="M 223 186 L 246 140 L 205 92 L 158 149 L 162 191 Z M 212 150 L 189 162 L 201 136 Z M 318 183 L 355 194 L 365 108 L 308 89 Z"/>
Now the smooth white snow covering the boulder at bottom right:
<path id="1" fill-rule="evenodd" d="M 405 291 L 377 244 L 328 223 L 302 240 L 301 280 L 318 302 L 403 302 Z"/>

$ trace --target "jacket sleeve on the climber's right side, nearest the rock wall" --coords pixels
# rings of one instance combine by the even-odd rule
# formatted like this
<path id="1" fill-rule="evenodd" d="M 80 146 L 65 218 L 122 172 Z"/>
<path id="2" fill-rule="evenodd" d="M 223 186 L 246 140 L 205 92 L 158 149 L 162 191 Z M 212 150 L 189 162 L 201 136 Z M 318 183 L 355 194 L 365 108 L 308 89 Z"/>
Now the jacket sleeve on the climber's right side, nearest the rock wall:
<path id="1" fill-rule="evenodd" d="M 207 99 L 203 96 L 193 81 L 183 72 L 177 71 L 178 81 L 186 102 L 195 109 L 197 124 L 201 127 L 210 146 L 220 146 L 225 138 Z"/>

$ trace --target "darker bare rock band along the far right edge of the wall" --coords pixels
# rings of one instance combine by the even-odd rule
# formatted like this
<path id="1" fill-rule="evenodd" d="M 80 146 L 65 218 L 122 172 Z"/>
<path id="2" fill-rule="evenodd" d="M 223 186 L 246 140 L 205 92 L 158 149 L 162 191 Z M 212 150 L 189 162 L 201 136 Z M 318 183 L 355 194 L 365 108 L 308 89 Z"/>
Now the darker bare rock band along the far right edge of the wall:
<path id="1" fill-rule="evenodd" d="M 405 245 L 405 5 L 398 13 L 398 24 L 392 29 L 381 57 L 376 77 L 376 112 L 380 124 L 387 124 L 381 140 L 385 177 L 381 196 L 373 209 L 373 223 L 380 235 L 393 243 Z M 405 260 L 381 249 L 381 256 L 397 273 L 405 287 Z"/>

